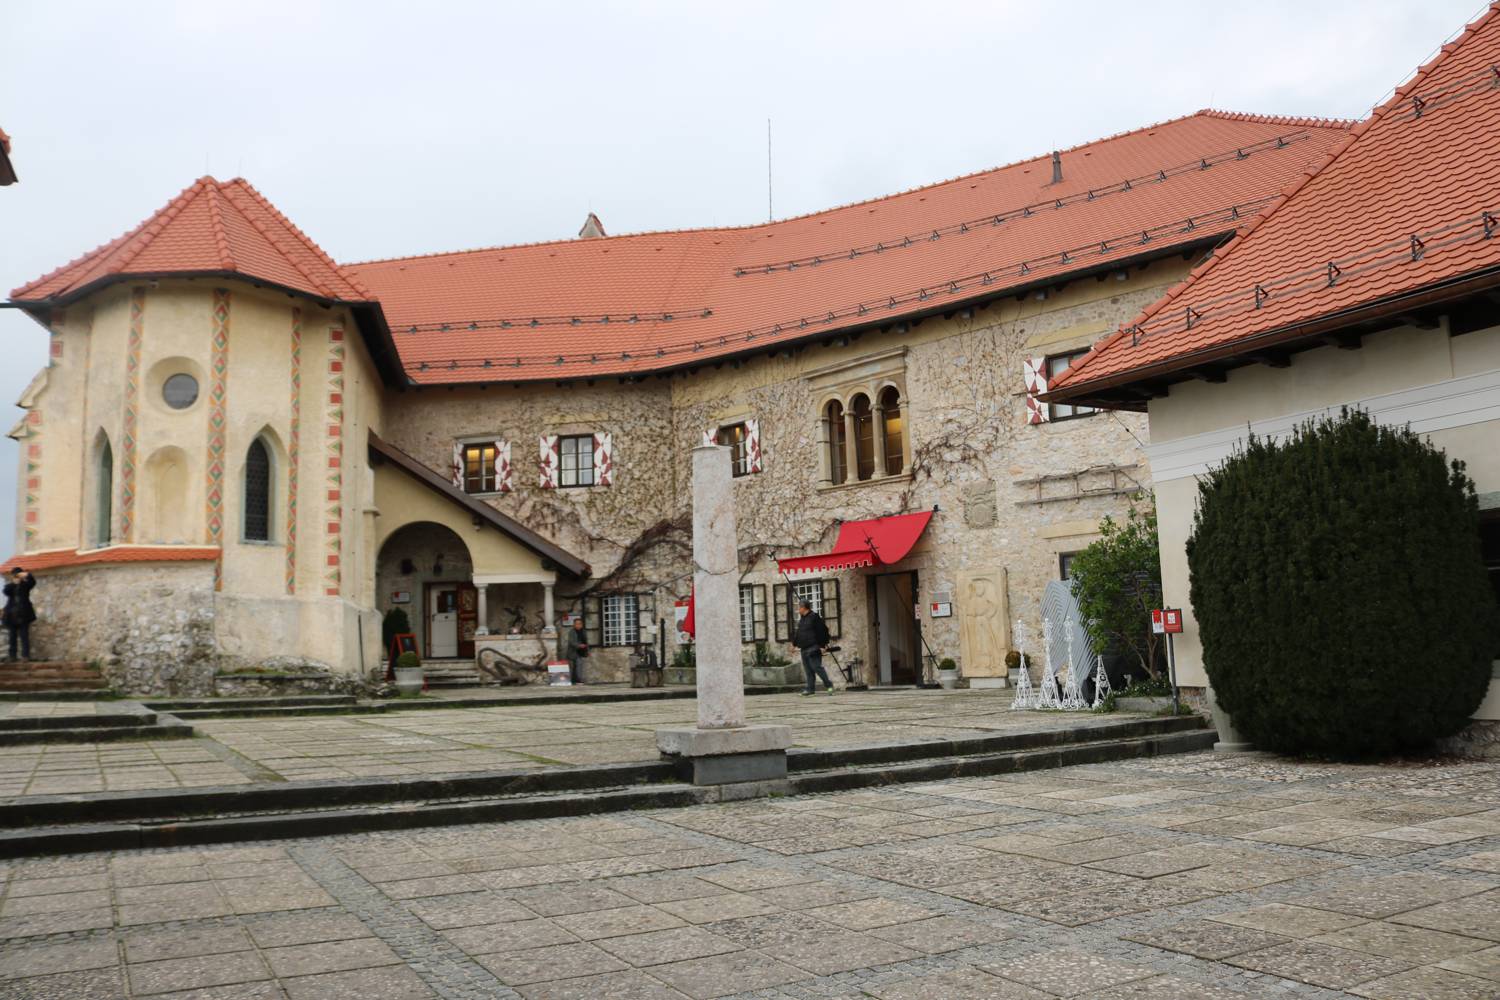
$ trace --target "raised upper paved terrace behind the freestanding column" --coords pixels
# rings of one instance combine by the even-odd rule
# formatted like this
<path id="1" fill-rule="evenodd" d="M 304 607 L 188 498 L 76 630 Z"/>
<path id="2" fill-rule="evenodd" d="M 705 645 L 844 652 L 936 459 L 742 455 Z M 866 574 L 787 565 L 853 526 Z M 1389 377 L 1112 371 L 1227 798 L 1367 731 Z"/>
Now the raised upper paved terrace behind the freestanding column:
<path id="1" fill-rule="evenodd" d="M 1107 724 L 1130 715 L 1011 712 L 1010 691 L 848 691 L 746 700 L 790 724 L 798 747 L 976 736 Z M 68 714 L 78 703 L 20 703 Z M 93 711 L 90 703 L 81 703 Z M 656 760 L 656 730 L 693 726 L 693 699 L 452 708 L 380 715 L 194 720 L 200 739 L 0 747 L 0 799 L 252 781 L 450 775 Z"/>

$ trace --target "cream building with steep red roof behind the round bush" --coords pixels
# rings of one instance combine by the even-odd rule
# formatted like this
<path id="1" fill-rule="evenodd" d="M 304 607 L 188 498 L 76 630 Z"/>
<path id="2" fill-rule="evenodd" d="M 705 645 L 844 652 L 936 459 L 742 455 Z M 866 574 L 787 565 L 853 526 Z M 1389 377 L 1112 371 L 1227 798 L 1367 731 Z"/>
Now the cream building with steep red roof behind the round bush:
<path id="1" fill-rule="evenodd" d="M 1162 586 L 1184 609 L 1185 685 L 1208 687 L 1188 600 L 1197 477 L 1246 432 L 1275 439 L 1348 406 L 1426 436 L 1476 484 L 1500 598 L 1497 60 L 1491 7 L 1048 393 L 1150 417 Z M 1500 651 L 1494 676 L 1470 730 L 1490 753 L 1500 748 Z"/>

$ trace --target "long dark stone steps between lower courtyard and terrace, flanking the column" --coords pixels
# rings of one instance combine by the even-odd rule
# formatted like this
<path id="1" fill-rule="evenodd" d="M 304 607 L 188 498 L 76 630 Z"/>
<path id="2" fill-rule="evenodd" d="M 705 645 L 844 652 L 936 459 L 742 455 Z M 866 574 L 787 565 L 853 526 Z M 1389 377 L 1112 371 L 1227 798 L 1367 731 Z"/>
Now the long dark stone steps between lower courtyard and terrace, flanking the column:
<path id="1" fill-rule="evenodd" d="M 796 795 L 954 777 L 1018 774 L 1080 763 L 1192 753 L 1212 747 L 1216 738 L 1212 730 L 1200 727 L 1136 739 L 1101 739 L 1044 750 L 938 757 L 896 766 L 882 763 L 832 768 L 794 774 L 784 781 L 764 783 L 766 787 L 759 792 Z M 634 780 L 628 780 L 630 769 L 636 771 Z M 32 796 L 24 804 L 0 804 L 0 858 L 506 823 L 678 808 L 732 801 L 744 795 L 734 786 L 682 784 L 670 780 L 672 774 L 675 768 L 663 762 L 560 768 L 512 775 L 459 775 L 447 780 L 303 781 L 280 786 Z M 610 778 L 616 783 L 603 784 Z M 489 787 L 484 787 L 486 783 Z M 560 783 L 578 784 L 568 787 Z M 380 798 L 370 795 L 374 789 L 380 790 Z M 70 817 L 70 822 L 64 817 Z"/>

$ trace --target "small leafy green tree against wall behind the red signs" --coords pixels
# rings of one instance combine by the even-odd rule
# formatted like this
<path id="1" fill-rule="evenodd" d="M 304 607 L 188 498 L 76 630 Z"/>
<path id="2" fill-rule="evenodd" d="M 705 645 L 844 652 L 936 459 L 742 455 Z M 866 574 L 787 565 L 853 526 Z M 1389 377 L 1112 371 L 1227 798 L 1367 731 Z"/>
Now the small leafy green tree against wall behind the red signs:
<path id="1" fill-rule="evenodd" d="M 1072 556 L 1072 592 L 1078 598 L 1094 652 L 1119 649 L 1156 676 L 1161 639 L 1150 630 L 1150 610 L 1161 606 L 1161 555 L 1156 505 L 1131 504 L 1125 523 L 1106 517 L 1101 538 Z"/>

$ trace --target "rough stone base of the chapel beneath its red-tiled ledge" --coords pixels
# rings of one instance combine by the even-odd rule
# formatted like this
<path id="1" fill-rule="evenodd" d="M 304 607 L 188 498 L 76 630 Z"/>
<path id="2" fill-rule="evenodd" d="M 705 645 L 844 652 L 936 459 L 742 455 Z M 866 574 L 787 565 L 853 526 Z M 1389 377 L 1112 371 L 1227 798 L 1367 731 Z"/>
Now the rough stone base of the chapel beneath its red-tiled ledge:
<path id="1" fill-rule="evenodd" d="M 33 592 L 36 655 L 98 663 L 128 694 L 214 693 L 213 565 L 164 562 L 57 570 Z"/>

